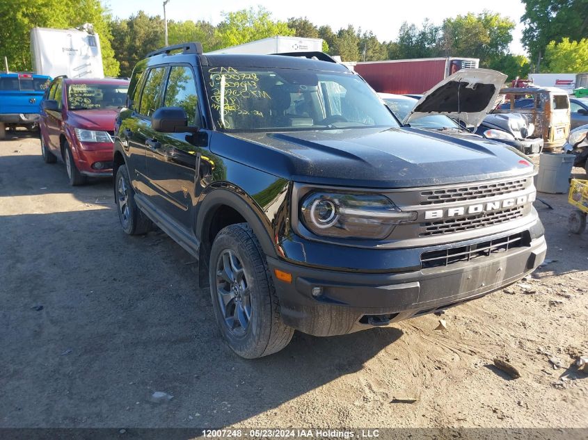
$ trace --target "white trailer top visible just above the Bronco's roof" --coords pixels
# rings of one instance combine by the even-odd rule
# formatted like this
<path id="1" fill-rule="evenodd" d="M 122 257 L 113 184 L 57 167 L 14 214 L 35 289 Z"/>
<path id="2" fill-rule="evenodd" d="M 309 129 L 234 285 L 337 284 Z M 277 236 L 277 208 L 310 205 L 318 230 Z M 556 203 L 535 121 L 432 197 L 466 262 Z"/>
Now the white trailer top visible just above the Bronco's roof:
<path id="1" fill-rule="evenodd" d="M 321 52 L 323 40 L 321 38 L 301 37 L 269 37 L 238 46 L 225 47 L 210 54 L 287 54 L 289 52 Z"/>

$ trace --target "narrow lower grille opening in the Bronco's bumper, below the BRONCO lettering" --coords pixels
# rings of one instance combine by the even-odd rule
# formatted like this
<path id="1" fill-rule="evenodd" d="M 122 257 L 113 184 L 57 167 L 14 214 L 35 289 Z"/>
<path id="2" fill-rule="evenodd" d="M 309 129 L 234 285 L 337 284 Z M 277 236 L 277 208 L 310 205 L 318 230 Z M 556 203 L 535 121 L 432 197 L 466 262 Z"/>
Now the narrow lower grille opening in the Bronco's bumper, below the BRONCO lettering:
<path id="1" fill-rule="evenodd" d="M 420 255 L 420 263 L 423 269 L 439 268 L 459 263 L 460 261 L 472 261 L 493 254 L 500 254 L 515 247 L 528 245 L 528 234 L 520 232 L 507 237 L 484 241 L 483 243 L 423 252 Z"/>

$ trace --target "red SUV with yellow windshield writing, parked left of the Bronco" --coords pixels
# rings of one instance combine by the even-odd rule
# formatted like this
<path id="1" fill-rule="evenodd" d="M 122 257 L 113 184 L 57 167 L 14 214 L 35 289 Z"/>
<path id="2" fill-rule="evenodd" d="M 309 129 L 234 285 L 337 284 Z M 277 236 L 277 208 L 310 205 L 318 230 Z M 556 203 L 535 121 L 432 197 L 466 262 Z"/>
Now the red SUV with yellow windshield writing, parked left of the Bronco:
<path id="1" fill-rule="evenodd" d="M 129 81 L 54 79 L 41 102 L 41 152 L 46 163 L 65 162 L 72 186 L 88 176 L 112 176 L 114 122 Z"/>

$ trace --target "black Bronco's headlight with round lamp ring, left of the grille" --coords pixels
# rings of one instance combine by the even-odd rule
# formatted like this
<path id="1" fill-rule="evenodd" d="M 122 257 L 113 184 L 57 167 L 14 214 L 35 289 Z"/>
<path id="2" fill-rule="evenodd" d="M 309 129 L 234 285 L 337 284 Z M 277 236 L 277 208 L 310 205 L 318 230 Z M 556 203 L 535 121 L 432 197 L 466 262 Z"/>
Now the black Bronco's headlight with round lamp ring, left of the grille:
<path id="1" fill-rule="evenodd" d="M 302 222 L 312 233 L 337 238 L 385 238 L 401 222 L 417 219 L 377 194 L 310 193 L 301 204 Z"/>

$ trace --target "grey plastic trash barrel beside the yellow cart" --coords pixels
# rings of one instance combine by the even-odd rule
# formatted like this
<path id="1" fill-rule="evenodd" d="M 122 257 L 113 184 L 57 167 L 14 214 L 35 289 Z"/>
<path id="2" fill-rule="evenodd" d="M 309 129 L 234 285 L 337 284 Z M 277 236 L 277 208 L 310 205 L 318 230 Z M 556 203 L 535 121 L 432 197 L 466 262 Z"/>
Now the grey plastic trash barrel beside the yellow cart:
<path id="1" fill-rule="evenodd" d="M 537 190 L 541 193 L 564 194 L 570 188 L 573 154 L 543 153 L 539 157 Z"/>

